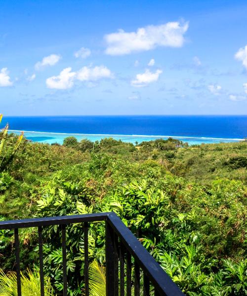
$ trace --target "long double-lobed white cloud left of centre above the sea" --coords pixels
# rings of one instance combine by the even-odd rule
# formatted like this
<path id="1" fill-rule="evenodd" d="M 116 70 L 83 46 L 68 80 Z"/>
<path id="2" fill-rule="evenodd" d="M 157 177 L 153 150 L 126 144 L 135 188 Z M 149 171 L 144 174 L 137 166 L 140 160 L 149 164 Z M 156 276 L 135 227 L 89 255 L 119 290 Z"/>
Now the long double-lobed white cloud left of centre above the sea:
<path id="1" fill-rule="evenodd" d="M 87 82 L 88 87 L 93 87 L 96 81 L 102 78 L 112 78 L 113 74 L 106 66 L 83 67 L 78 72 L 71 72 L 72 68 L 64 69 L 58 76 L 46 79 L 48 88 L 68 89 L 74 86 L 75 80 Z"/>

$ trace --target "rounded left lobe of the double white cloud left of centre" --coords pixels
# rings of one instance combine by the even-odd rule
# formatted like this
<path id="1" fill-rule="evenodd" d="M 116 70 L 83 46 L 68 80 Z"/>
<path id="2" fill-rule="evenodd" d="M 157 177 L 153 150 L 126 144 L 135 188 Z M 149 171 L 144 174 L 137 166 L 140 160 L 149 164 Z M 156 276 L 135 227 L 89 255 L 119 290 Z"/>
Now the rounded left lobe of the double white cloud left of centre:
<path id="1" fill-rule="evenodd" d="M 65 68 L 58 76 L 52 76 L 46 79 L 48 88 L 68 89 L 74 85 L 76 72 L 71 72 L 71 68 Z"/>

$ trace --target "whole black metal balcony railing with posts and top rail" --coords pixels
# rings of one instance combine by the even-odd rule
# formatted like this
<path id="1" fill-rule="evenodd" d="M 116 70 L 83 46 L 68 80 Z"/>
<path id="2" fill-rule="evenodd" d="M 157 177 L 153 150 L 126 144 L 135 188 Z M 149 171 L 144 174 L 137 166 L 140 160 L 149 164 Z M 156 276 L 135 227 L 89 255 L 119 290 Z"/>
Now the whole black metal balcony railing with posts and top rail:
<path id="1" fill-rule="evenodd" d="M 14 229 L 18 296 L 21 296 L 19 228 L 38 227 L 41 296 L 44 296 L 42 230 L 45 226 L 61 225 L 63 295 L 67 296 L 66 225 L 72 223 L 83 223 L 85 296 L 89 296 L 88 223 L 97 221 L 105 221 L 106 225 L 106 296 L 131 296 L 132 286 L 134 296 L 139 296 L 140 290 L 143 296 L 149 296 L 150 286 L 155 296 L 184 295 L 121 219 L 111 212 L 0 222 L 0 229 Z M 132 262 L 134 279 L 131 276 Z M 143 274 L 142 287 L 140 270 Z"/>

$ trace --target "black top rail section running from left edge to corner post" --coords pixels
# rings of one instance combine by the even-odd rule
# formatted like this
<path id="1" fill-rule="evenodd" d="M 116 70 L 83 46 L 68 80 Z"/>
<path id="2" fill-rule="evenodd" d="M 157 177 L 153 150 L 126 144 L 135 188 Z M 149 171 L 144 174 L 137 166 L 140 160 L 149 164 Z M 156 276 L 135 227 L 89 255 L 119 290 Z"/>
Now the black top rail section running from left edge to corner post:
<path id="1" fill-rule="evenodd" d="M 107 216 L 109 214 L 110 213 L 93 213 L 93 214 L 84 214 L 84 215 L 0 221 L 0 229 L 14 229 L 14 228 L 39 227 L 39 226 L 71 224 L 71 223 L 81 223 L 81 222 L 104 221 L 104 220 L 107 220 Z"/>

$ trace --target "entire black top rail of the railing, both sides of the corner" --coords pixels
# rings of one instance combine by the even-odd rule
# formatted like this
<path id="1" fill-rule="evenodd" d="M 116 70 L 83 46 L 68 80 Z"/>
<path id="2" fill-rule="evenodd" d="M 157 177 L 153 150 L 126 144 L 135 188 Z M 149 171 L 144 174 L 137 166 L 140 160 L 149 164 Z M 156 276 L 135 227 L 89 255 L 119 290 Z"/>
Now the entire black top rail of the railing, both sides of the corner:
<path id="1" fill-rule="evenodd" d="M 114 212 L 1 221 L 0 229 L 18 229 L 97 221 L 107 221 L 111 225 L 126 250 L 133 256 L 149 277 L 160 296 L 184 296 L 178 286 L 165 273 L 160 264 L 149 254 Z"/>

